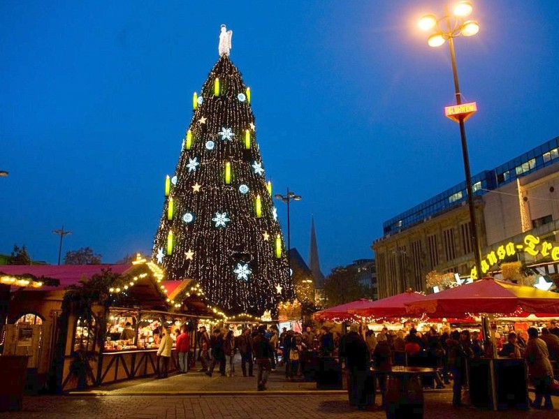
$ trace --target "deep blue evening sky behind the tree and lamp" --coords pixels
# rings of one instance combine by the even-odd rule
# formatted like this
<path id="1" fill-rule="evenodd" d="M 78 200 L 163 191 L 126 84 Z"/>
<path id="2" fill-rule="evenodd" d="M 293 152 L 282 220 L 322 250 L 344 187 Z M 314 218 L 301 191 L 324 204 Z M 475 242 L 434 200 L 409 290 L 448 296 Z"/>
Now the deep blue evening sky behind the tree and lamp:
<path id="1" fill-rule="evenodd" d="M 472 174 L 559 135 L 558 1 L 473 1 L 458 38 Z M 372 258 L 382 222 L 464 179 L 449 50 L 416 29 L 442 1 L 0 2 L 0 253 L 56 263 L 150 253 L 219 27 L 252 89 L 256 140 L 307 259 Z M 277 202 L 286 231 L 286 205 Z"/>

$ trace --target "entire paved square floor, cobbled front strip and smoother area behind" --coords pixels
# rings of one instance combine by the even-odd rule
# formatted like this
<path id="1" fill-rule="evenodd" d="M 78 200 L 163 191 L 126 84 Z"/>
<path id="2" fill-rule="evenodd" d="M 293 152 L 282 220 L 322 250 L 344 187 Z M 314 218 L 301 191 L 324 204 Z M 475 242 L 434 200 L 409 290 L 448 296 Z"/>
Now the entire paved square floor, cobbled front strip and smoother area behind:
<path id="1" fill-rule="evenodd" d="M 427 390 L 426 419 L 557 419 L 559 397 L 554 397 L 556 411 L 484 411 L 453 408 L 452 393 Z M 533 395 L 532 395 L 533 397 Z M 377 403 L 380 398 L 377 395 Z M 256 378 L 242 376 L 212 378 L 198 372 L 173 375 L 163 380 L 143 378 L 125 383 L 75 392 L 65 396 L 24 397 L 20 412 L 0 413 L 10 419 L 244 419 L 244 418 L 386 418 L 384 411 L 356 411 L 347 402 L 344 391 L 319 391 L 313 382 L 285 381 L 282 372 L 273 372 L 268 390 L 256 391 Z"/>

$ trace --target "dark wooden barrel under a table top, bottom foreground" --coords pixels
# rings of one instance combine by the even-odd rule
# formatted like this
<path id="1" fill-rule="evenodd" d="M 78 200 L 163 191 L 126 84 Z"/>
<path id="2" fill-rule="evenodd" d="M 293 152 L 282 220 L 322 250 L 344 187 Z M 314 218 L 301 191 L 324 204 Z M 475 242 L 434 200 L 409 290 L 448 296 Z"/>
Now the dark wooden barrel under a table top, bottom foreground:
<path id="1" fill-rule="evenodd" d="M 419 376 L 389 375 L 385 402 L 388 419 L 423 419 L 423 387 Z"/>

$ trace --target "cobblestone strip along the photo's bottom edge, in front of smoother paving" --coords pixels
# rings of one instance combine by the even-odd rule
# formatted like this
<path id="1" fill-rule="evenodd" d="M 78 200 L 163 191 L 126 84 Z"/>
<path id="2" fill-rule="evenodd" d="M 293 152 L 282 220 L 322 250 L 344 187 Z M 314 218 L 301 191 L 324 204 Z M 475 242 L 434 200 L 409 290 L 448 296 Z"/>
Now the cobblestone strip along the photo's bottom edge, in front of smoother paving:
<path id="1" fill-rule="evenodd" d="M 559 399 L 554 402 L 559 406 Z M 453 408 L 451 393 L 426 394 L 425 419 L 551 419 L 559 411 L 484 411 Z M 347 395 L 244 395 L 244 396 L 37 396 L 24 399 L 20 412 L 0 413 L 0 418 L 119 418 L 119 419 L 240 419 L 240 418 L 385 418 L 383 411 L 356 411 Z"/>

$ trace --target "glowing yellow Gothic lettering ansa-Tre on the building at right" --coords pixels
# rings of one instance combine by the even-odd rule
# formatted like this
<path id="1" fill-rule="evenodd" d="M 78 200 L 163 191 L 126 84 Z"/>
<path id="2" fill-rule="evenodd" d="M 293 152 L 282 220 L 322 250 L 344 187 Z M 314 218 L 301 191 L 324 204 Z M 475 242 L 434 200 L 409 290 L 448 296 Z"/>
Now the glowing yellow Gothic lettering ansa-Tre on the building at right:
<path id="1" fill-rule="evenodd" d="M 551 256 L 551 260 L 554 262 L 559 261 L 559 246 L 546 240 L 542 241 L 542 239 L 535 235 L 528 234 L 524 236 L 524 240 L 521 244 L 508 242 L 507 244 L 501 244 L 497 250 L 487 253 L 484 260 L 481 260 L 481 272 L 486 274 L 489 268 L 499 261 L 521 252 L 528 253 L 530 256 L 540 255 L 542 258 Z M 472 267 L 470 277 L 478 279 L 476 267 Z"/>

